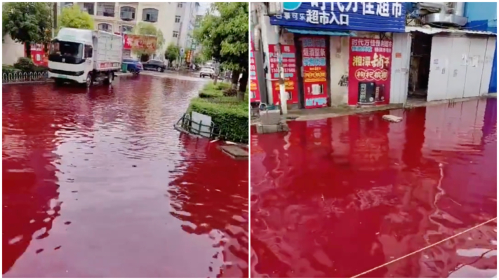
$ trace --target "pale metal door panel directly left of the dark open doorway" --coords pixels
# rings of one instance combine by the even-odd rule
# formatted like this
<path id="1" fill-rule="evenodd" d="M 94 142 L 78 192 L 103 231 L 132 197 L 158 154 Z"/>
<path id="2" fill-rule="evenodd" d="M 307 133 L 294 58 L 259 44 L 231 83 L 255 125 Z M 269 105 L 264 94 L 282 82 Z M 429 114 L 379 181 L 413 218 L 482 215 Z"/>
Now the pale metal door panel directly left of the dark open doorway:
<path id="1" fill-rule="evenodd" d="M 409 64 L 411 62 L 411 34 L 394 33 L 392 48 L 392 73 L 390 104 L 404 104 L 407 100 Z"/>

